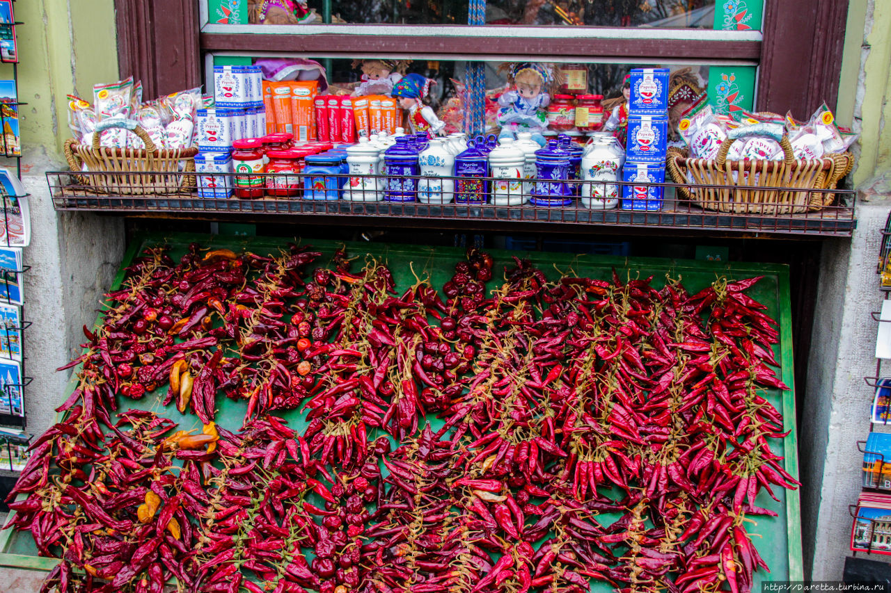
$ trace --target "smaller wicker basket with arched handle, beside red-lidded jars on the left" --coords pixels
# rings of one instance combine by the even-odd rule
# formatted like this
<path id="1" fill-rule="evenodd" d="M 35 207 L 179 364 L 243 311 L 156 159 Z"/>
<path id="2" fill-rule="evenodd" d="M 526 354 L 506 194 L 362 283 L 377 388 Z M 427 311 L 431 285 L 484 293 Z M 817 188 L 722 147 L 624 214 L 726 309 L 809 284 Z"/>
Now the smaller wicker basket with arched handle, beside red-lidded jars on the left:
<path id="1" fill-rule="evenodd" d="M 104 130 L 125 128 L 145 142 L 144 149 L 119 149 L 99 145 Z M 119 196 L 191 193 L 195 189 L 194 157 L 197 148 L 161 149 L 151 142 L 149 134 L 133 120 L 107 120 L 96 126 L 93 145 L 77 140 L 65 141 L 65 158 L 71 176 L 97 193 Z M 77 175 L 90 172 L 102 175 Z"/>

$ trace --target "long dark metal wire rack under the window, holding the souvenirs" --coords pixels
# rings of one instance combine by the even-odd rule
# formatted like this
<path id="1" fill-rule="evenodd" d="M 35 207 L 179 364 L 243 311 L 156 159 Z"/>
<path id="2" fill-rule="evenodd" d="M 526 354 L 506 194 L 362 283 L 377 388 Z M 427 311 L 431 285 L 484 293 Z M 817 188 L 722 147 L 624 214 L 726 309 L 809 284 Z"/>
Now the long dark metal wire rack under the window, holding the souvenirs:
<path id="1" fill-rule="evenodd" d="M 214 177 L 237 177 L 235 174 L 213 174 Z M 261 174 L 259 177 L 273 175 Z M 192 177 L 192 180 L 182 180 Z M 415 228 L 439 228 L 461 230 L 509 230 L 515 232 L 660 232 L 676 231 L 684 233 L 740 233 L 765 235 L 798 235 L 802 237 L 850 237 L 854 232 L 854 191 L 846 190 L 807 190 L 793 191 L 781 189 L 787 194 L 787 202 L 776 205 L 768 202 L 742 205 L 733 201 L 734 191 L 748 191 L 754 194 L 777 188 L 757 188 L 740 190 L 731 186 L 703 185 L 697 183 L 610 183 L 621 192 L 625 186 L 661 187 L 666 198 L 658 210 L 625 210 L 621 207 L 584 207 L 572 196 L 572 204 L 566 207 L 541 207 L 531 202 L 518 206 L 497 206 L 491 203 L 469 203 L 461 192 L 446 195 L 437 203 L 421 201 L 350 201 L 347 199 L 305 199 L 294 197 L 263 196 L 258 199 L 236 197 L 208 199 L 197 191 L 176 191 L 168 188 L 181 186 L 194 188 L 195 174 L 153 174 L 140 173 L 82 173 L 75 177 L 70 172 L 49 172 L 47 183 L 53 196 L 53 206 L 57 210 L 91 210 L 127 214 L 131 216 L 172 216 L 183 218 L 208 218 L 215 220 L 234 219 L 239 221 L 257 220 L 268 216 L 287 216 L 293 222 L 369 224 L 378 226 L 399 226 Z M 289 175 L 292 183 L 300 188 L 312 188 L 319 175 Z M 379 187 L 386 187 L 388 178 L 371 175 Z M 339 185 L 348 189 L 348 175 L 325 175 L 325 179 L 339 178 Z M 405 179 L 426 183 L 431 178 L 409 176 Z M 460 177 L 439 177 L 437 181 L 468 181 Z M 232 183 L 234 180 L 229 179 Z M 494 177 L 477 177 L 474 182 L 491 185 L 499 180 Z M 504 181 L 504 180 L 500 180 Z M 545 180 L 526 180 L 535 184 Z M 181 183 L 182 182 L 182 183 Z M 223 183 L 222 181 L 218 183 Z M 567 185 L 581 190 L 591 182 L 570 181 Z M 158 191 L 152 191 L 152 186 Z M 346 187 L 345 187 L 346 186 Z M 581 187 L 579 187 L 581 186 Z M 107 187 L 108 191 L 97 191 Z M 699 207 L 694 202 L 676 195 L 678 188 L 696 191 L 697 188 L 720 189 L 728 199 L 718 204 L 719 210 Z M 311 191 L 307 189 L 307 192 Z M 329 190 L 331 191 L 331 190 Z M 416 194 L 423 194 L 423 185 Z M 300 191 L 303 194 L 304 191 Z M 334 191 L 338 195 L 339 191 Z M 492 191 L 485 193 L 491 196 Z M 819 201 L 827 194 L 834 194 L 829 206 L 819 209 L 789 207 L 787 204 L 806 204 L 814 196 Z M 520 194 L 515 194 L 520 195 Z M 526 196 L 527 194 L 523 194 Z M 462 200 L 462 198 L 464 198 Z M 490 198 L 486 198 L 490 201 Z M 828 201 L 829 199 L 826 199 Z M 748 201 L 753 201 L 749 199 Z M 445 203 L 442 203 L 445 202 Z"/>

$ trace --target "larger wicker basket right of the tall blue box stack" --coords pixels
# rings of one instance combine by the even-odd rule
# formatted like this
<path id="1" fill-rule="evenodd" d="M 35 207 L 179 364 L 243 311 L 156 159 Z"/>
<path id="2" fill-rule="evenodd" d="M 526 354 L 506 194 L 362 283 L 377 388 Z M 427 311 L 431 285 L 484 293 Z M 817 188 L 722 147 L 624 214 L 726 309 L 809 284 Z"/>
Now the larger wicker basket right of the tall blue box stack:
<path id="1" fill-rule="evenodd" d="M 733 134 L 737 132 L 737 134 Z M 789 137 L 783 134 L 782 160 L 727 160 L 731 144 L 752 135 L 732 130 L 721 144 L 717 157 L 687 158 L 686 150 L 669 150 L 668 172 L 674 183 L 714 185 L 678 188 L 683 198 L 707 210 L 738 214 L 787 215 L 829 206 L 834 193 L 801 190 L 832 190 L 853 166 L 847 152 L 824 158 L 797 159 Z M 772 190 L 759 188 L 774 188 Z"/>

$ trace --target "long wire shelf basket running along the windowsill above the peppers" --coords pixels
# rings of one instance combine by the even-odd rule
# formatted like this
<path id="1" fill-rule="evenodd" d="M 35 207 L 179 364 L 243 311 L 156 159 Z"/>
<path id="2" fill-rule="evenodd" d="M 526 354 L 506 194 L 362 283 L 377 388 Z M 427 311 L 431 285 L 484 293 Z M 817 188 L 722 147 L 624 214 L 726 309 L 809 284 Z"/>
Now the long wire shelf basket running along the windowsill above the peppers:
<path id="1" fill-rule="evenodd" d="M 69 172 L 49 172 L 47 183 L 57 210 L 91 210 L 128 215 L 181 215 L 196 218 L 262 218 L 268 215 L 292 216 L 304 220 L 336 219 L 342 224 L 378 224 L 416 228 L 451 228 L 512 231 L 620 232 L 631 229 L 662 229 L 681 232 L 727 232 L 747 234 L 850 237 L 854 232 L 854 191 L 807 190 L 791 188 L 756 188 L 741 190 L 723 186 L 728 200 L 717 210 L 699 207 L 682 199 L 677 188 L 694 192 L 714 185 L 697 183 L 601 183 L 560 182 L 560 195 L 535 195 L 536 188 L 547 187 L 553 180 L 509 180 L 494 177 L 421 177 L 401 176 L 397 180 L 383 175 L 366 175 L 364 183 L 350 175 L 257 174 L 256 198 L 239 198 L 225 188 L 245 183 L 245 175 L 236 174 L 118 174 L 114 191 L 97 191 L 106 173 L 78 173 L 78 183 Z M 191 192 L 169 193 L 170 175 L 192 177 Z M 209 178 L 212 177 L 212 180 Z M 163 179 L 162 179 L 163 178 Z M 152 179 L 159 180 L 152 191 Z M 391 185 L 397 181 L 397 185 Z M 468 183 L 470 181 L 470 183 Z M 87 183 L 84 183 L 87 182 Z M 163 183 L 163 187 L 161 186 Z M 196 183 L 201 184 L 200 191 Z M 208 187 L 208 183 L 214 187 Z M 539 186 L 539 183 L 544 185 Z M 441 185 L 440 185 L 441 184 Z M 173 184 L 176 186 L 176 183 Z M 609 195 L 643 195 L 651 188 L 661 188 L 661 202 L 619 200 L 617 206 L 596 203 L 585 207 L 579 195 L 591 195 L 592 186 Z M 396 191 L 393 188 L 396 187 Z M 512 188 L 512 189 L 511 189 Z M 519 188 L 519 189 L 517 189 Z M 626 189 L 628 188 L 628 189 Z M 631 193 L 628 193 L 629 190 Z M 740 191 L 766 193 L 780 190 L 781 203 L 758 203 L 749 195 L 745 204 L 734 201 Z M 736 193 L 735 193 L 736 192 Z M 292 195 L 282 195 L 282 194 Z M 809 209 L 814 193 L 833 194 L 829 206 Z M 271 195 L 278 194 L 278 195 Z M 567 194 L 567 195 L 563 195 Z M 396 198 L 393 198 L 396 196 Z M 351 198 L 351 199 L 345 199 Z M 432 198 L 432 199 L 430 199 Z M 405 200 L 405 201 L 399 201 Z M 506 202 L 518 202 L 506 205 Z M 824 200 L 819 200 L 824 201 Z M 826 199 L 825 201 L 829 201 Z M 550 203 L 549 206 L 535 202 Z M 565 206 L 557 204 L 566 203 Z M 755 203 L 753 203 L 755 202 Z M 640 209 L 638 209 L 640 208 Z M 651 208 L 651 209 L 645 209 Z M 738 211 L 742 210 L 742 211 Z M 326 220 L 325 222 L 331 222 Z"/>

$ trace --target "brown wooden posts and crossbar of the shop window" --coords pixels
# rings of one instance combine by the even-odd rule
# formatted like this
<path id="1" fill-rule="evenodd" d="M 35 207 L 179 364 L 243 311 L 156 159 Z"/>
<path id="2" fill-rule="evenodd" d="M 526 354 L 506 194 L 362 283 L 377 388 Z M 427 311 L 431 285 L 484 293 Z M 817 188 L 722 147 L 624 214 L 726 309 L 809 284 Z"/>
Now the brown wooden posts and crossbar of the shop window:
<path id="1" fill-rule="evenodd" d="M 317 35 L 200 33 L 200 0 L 115 0 L 118 11 L 118 57 L 121 76 L 132 74 L 143 81 L 145 96 L 172 93 L 200 85 L 201 51 L 253 51 L 342 53 L 418 53 L 417 37 L 356 37 L 338 33 Z M 720 0 L 718 0 L 720 1 Z M 498 43 L 480 43 L 479 37 L 426 37 L 425 53 L 448 56 L 468 53 L 487 55 L 535 55 L 563 59 L 689 58 L 759 63 L 757 109 L 799 118 L 825 101 L 835 107 L 841 49 L 845 41 L 848 0 L 765 0 L 763 42 L 639 40 L 596 37 L 529 39 L 511 35 Z M 411 28 L 412 26 L 406 26 Z M 361 49 L 357 49 L 361 45 Z"/>

